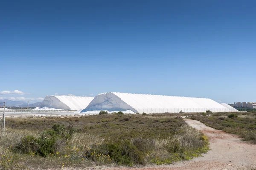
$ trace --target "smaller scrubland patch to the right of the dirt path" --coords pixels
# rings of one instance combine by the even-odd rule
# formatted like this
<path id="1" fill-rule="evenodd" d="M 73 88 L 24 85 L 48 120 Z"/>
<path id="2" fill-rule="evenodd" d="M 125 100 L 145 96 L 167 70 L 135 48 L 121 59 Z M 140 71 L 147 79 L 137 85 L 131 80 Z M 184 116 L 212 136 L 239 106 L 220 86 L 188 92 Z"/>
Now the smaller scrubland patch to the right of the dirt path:
<path id="1" fill-rule="evenodd" d="M 244 141 L 256 144 L 256 112 L 195 114 L 190 119 L 199 120 L 205 125 L 241 136 Z"/>

